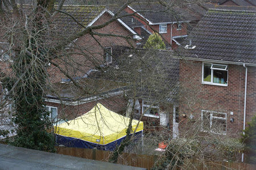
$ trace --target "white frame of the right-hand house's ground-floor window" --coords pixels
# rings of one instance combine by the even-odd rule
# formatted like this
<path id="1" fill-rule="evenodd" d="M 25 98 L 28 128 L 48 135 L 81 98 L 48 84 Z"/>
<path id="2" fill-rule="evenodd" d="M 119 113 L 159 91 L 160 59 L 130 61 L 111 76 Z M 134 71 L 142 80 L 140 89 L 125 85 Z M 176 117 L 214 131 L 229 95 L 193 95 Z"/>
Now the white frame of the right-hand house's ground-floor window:
<path id="1" fill-rule="evenodd" d="M 210 131 L 207 131 L 207 130 L 204 130 L 203 128 L 203 112 L 208 112 L 210 113 Z M 217 117 L 217 116 L 213 116 L 213 113 L 217 113 L 217 114 L 224 114 L 225 115 L 225 118 L 223 117 Z M 226 121 L 226 126 L 227 126 L 227 119 L 226 119 L 226 113 L 222 113 L 222 112 L 214 112 L 214 111 L 207 111 L 207 110 L 202 110 L 201 111 L 201 131 L 204 131 L 204 132 L 210 132 L 210 133 L 213 133 L 213 134 L 222 134 L 222 135 L 226 135 L 226 129 L 225 129 L 225 132 L 224 133 L 217 133 L 216 131 L 212 130 L 212 120 L 213 118 L 216 118 L 216 119 L 220 119 L 220 120 L 225 120 Z"/>

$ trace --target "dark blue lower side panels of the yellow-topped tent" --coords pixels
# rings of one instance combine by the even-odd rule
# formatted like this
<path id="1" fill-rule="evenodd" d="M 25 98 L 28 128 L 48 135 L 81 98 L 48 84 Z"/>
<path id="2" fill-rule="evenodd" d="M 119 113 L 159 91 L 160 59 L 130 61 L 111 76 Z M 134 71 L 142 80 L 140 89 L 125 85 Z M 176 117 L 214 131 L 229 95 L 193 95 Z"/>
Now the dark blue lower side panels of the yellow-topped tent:
<path id="1" fill-rule="evenodd" d="M 97 148 L 98 150 L 106 150 L 106 151 L 114 151 L 115 147 L 120 145 L 120 143 L 125 139 L 122 137 L 117 141 L 108 143 L 107 145 L 100 145 L 97 143 L 92 143 L 88 141 L 83 141 L 81 139 L 72 138 L 72 137 L 65 137 L 62 135 L 56 135 L 56 145 L 64 145 L 66 147 L 79 147 L 79 148 Z M 134 140 L 137 141 L 138 139 L 142 138 L 142 131 L 138 131 L 134 135 Z"/>

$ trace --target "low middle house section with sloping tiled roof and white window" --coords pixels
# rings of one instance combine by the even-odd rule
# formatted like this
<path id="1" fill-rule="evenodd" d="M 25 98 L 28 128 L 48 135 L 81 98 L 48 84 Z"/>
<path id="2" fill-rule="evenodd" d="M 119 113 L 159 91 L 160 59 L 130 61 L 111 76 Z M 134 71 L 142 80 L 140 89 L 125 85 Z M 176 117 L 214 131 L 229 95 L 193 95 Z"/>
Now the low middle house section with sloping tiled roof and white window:
<path id="1" fill-rule="evenodd" d="M 147 59 L 144 59 L 142 65 L 137 65 L 137 62 L 141 61 L 140 58 L 144 58 L 144 56 L 147 56 Z M 135 94 L 134 117 L 139 119 L 143 114 L 142 121 L 144 122 L 145 132 L 162 131 L 166 128 L 172 128 L 173 113 L 177 107 L 175 93 L 177 81 L 179 80 L 179 59 L 172 57 L 170 50 L 145 49 L 126 49 L 119 54 L 115 54 L 113 57 L 113 66 L 110 65 L 105 70 L 94 71 L 89 77 L 126 82 L 127 88 L 123 91 L 123 96 L 125 96 L 126 100 L 125 114 L 127 117 L 130 116 L 130 113 L 127 111 L 131 110 Z M 159 73 L 141 72 L 146 67 L 159 68 L 156 69 Z M 137 69 L 141 71 L 135 73 L 134 70 Z M 150 79 L 158 76 L 160 78 L 159 81 L 164 81 L 167 86 L 164 83 L 156 83 L 158 85 L 154 87 L 154 90 L 148 90 L 147 87 L 151 87 L 154 82 L 141 84 L 148 76 L 150 76 Z M 171 94 L 170 91 L 174 94 Z M 170 95 L 166 95 L 166 93 Z"/>

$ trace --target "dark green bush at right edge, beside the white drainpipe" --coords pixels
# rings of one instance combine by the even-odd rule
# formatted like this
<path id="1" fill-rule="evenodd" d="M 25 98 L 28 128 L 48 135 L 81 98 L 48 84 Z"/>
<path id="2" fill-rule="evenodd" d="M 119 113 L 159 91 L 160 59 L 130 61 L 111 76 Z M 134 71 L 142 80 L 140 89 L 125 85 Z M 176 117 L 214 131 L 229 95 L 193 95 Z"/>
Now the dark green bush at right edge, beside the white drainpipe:
<path id="1" fill-rule="evenodd" d="M 245 155 L 247 163 L 256 164 L 256 116 L 248 123 L 245 134 L 242 134 L 241 142 L 245 143 Z"/>

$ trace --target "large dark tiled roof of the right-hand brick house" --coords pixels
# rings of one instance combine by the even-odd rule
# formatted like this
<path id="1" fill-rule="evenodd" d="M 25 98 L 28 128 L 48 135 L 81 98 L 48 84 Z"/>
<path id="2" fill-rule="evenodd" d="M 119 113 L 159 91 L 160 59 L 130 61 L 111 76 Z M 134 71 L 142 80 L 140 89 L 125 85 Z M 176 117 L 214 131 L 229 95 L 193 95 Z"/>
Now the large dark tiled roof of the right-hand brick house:
<path id="1" fill-rule="evenodd" d="M 209 10 L 188 36 L 193 49 L 180 56 L 256 63 L 256 12 Z M 188 42 L 186 42 L 188 44 Z"/>

